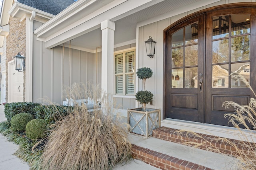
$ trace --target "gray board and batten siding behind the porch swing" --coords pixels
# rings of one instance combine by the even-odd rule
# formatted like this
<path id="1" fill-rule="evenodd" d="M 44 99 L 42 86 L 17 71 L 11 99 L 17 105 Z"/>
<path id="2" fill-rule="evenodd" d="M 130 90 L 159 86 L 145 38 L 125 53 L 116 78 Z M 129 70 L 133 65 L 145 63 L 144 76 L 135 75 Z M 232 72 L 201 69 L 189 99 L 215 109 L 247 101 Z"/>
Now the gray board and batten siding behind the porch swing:
<path id="1" fill-rule="evenodd" d="M 41 24 L 36 22 L 34 25 L 39 27 Z M 64 51 L 63 46 L 47 49 L 45 43 L 37 41 L 34 35 L 32 102 L 44 103 L 43 99 L 46 99 L 62 104 L 66 100 L 62 94 L 64 86 L 89 81 L 100 84 L 101 52 L 89 53 L 65 45 Z"/>

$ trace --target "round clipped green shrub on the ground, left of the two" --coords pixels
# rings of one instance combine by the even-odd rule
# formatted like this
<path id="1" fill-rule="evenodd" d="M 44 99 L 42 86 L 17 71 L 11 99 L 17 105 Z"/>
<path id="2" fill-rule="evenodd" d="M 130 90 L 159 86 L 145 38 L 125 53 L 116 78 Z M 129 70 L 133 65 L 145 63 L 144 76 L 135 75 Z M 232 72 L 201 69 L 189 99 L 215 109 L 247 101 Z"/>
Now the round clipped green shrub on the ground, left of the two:
<path id="1" fill-rule="evenodd" d="M 25 131 L 26 125 L 33 119 L 33 115 L 29 113 L 19 113 L 11 119 L 11 127 L 14 131 Z"/>

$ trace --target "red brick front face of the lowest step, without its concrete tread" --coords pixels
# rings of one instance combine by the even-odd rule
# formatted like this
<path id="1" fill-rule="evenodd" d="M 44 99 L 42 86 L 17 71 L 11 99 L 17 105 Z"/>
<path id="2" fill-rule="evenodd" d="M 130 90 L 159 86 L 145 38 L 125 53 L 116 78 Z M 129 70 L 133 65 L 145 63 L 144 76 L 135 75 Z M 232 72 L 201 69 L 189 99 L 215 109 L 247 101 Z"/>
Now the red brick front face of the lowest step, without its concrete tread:
<path id="1" fill-rule="evenodd" d="M 193 162 L 169 156 L 151 149 L 132 145 L 133 158 L 162 170 L 212 170 Z"/>

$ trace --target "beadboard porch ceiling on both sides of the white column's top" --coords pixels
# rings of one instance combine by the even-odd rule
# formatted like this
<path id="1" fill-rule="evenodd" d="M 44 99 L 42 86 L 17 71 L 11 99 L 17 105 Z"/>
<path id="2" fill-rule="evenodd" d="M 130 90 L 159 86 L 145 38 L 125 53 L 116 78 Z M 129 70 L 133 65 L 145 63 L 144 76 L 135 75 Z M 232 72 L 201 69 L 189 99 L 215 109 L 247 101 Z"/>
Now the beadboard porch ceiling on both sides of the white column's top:
<path id="1" fill-rule="evenodd" d="M 114 31 L 114 44 L 136 39 L 137 23 L 156 16 L 161 16 L 162 14 L 200 1 L 202 0 L 164 0 L 135 13 L 130 11 L 131 14 L 128 16 L 116 16 L 115 18 L 111 19 L 116 23 L 116 30 Z M 86 47 L 88 49 L 95 49 L 96 47 L 101 46 L 101 30 L 96 29 L 81 35 L 80 37 L 73 39 L 72 44 L 75 46 Z"/>

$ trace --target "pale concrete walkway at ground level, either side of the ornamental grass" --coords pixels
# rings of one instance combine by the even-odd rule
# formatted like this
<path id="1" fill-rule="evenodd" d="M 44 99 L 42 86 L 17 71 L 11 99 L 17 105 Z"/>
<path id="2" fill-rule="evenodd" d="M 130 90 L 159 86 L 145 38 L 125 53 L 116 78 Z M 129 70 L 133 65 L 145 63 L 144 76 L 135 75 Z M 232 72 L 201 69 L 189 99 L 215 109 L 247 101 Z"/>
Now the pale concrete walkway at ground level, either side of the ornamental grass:
<path id="1" fill-rule="evenodd" d="M 5 121 L 4 106 L 0 105 L 0 122 Z M 18 145 L 8 141 L 0 134 L 0 170 L 29 170 L 27 162 L 13 155 Z M 116 165 L 114 170 L 159 170 L 139 160 L 131 160 L 129 163 Z"/>

